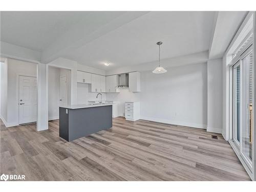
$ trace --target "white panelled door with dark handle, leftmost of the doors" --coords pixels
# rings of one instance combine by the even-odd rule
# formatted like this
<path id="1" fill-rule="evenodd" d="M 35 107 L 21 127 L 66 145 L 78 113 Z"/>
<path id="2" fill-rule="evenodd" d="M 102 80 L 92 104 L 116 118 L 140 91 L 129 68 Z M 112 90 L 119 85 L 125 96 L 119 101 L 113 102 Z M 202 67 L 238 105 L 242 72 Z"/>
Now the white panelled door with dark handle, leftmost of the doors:
<path id="1" fill-rule="evenodd" d="M 36 77 L 19 76 L 19 124 L 37 119 Z"/>

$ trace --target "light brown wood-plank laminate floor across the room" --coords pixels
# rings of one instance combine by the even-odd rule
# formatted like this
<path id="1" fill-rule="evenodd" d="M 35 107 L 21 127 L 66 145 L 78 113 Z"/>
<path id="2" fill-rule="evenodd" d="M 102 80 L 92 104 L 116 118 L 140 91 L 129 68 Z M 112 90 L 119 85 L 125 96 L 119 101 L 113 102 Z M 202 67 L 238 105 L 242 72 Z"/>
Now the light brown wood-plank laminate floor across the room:
<path id="1" fill-rule="evenodd" d="M 26 180 L 227 181 L 250 180 L 220 134 L 152 121 L 113 119 L 113 127 L 72 142 L 35 124 L 1 121 L 1 174 Z M 217 139 L 216 139 L 217 136 Z"/>

